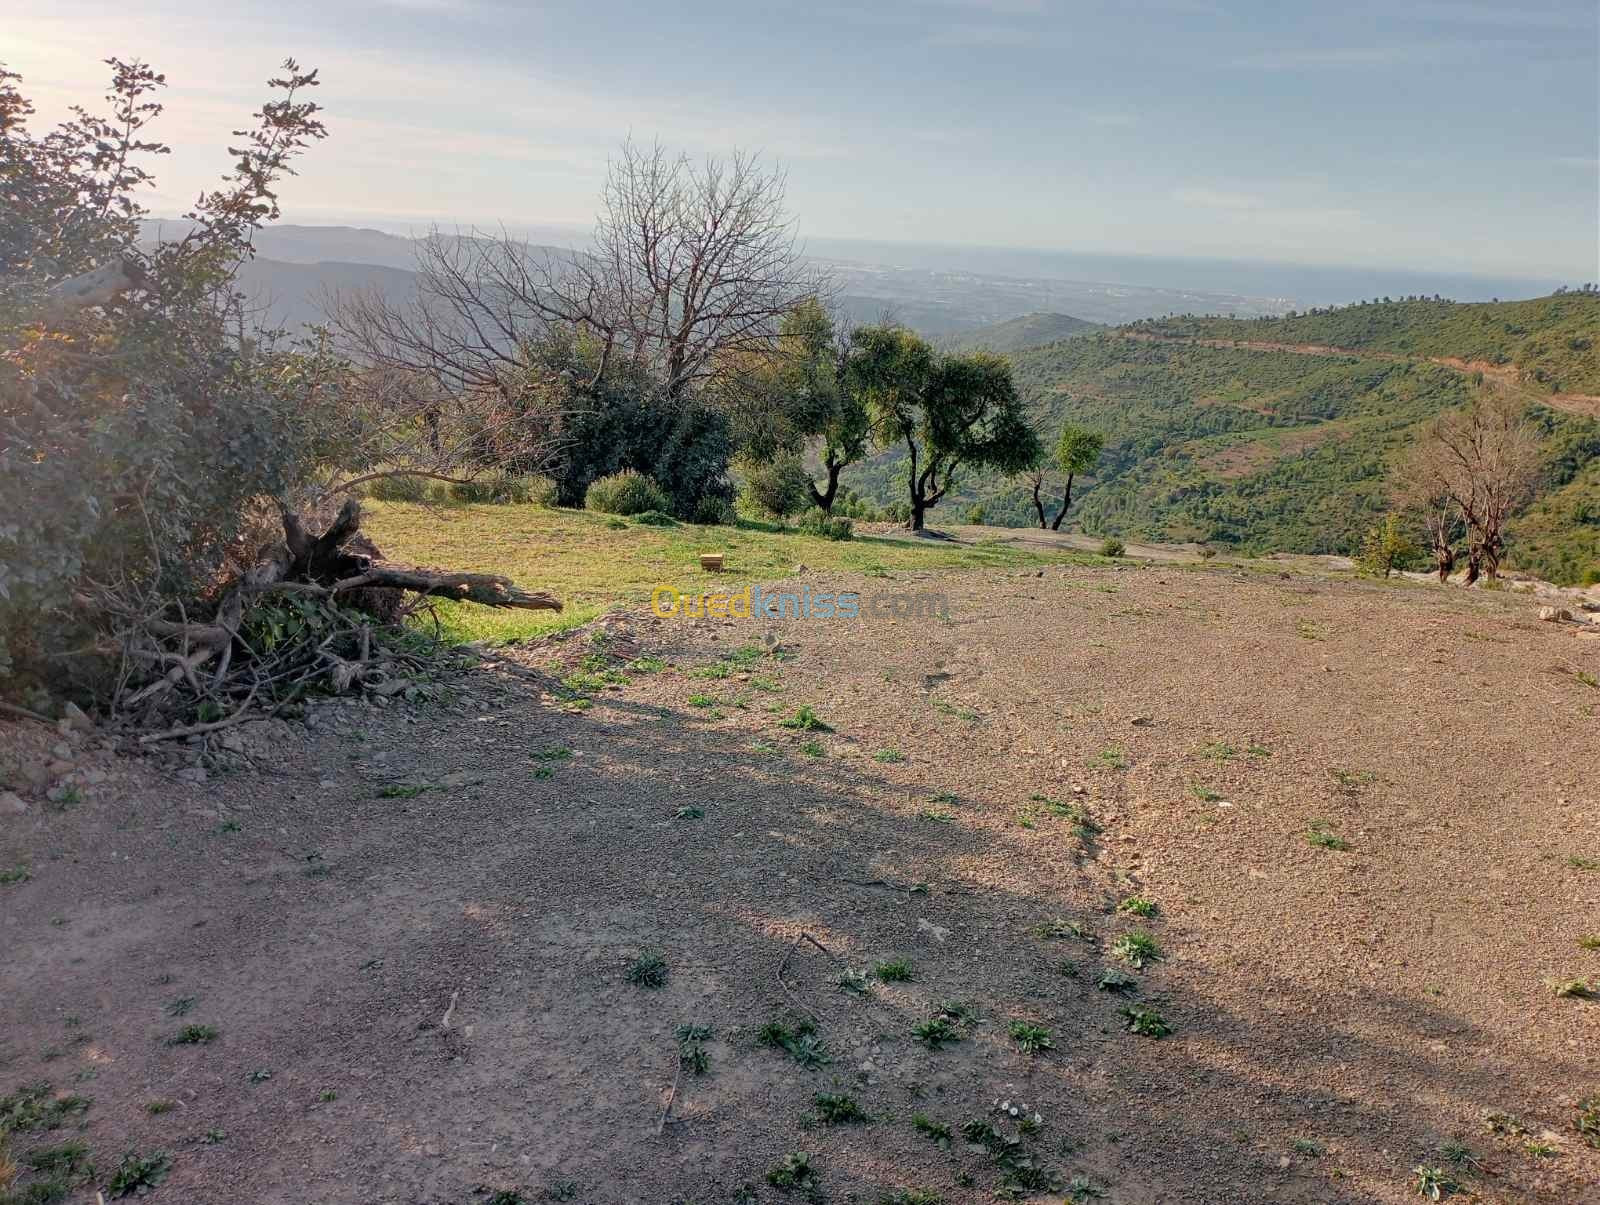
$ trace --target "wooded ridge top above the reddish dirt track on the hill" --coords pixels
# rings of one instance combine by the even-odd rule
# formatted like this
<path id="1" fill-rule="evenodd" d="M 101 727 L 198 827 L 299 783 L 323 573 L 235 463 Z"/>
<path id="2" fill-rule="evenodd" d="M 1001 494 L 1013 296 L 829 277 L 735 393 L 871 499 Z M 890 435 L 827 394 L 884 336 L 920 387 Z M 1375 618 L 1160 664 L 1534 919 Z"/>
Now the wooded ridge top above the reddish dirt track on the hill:
<path id="1" fill-rule="evenodd" d="M 1370 301 L 1282 318 L 1152 318 L 1149 334 L 1312 344 L 1514 366 L 1547 394 L 1600 394 L 1600 293 L 1464 304 L 1438 298 Z"/>

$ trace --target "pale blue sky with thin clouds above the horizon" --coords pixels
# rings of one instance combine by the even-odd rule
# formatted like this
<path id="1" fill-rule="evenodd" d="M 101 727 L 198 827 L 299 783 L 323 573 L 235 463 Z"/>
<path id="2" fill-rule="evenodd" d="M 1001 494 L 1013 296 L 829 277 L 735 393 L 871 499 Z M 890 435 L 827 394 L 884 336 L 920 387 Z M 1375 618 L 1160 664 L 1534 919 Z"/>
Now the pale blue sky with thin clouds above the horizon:
<path id="1" fill-rule="evenodd" d="M 1600 278 L 1595 0 L 5 0 L 37 123 L 166 74 L 181 213 L 283 56 L 285 219 L 592 221 L 618 144 L 760 152 L 802 237 Z"/>

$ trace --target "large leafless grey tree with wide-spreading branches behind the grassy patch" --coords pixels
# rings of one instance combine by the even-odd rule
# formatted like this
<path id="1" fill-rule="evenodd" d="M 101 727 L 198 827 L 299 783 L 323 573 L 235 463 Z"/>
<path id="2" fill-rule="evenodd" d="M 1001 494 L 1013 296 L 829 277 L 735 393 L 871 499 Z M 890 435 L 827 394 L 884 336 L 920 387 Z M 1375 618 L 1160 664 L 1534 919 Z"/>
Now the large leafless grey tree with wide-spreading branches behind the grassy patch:
<path id="1" fill-rule="evenodd" d="M 507 458 L 547 462 L 560 419 L 594 398 L 616 357 L 666 403 L 734 397 L 784 317 L 824 291 L 802 262 L 784 187 L 750 155 L 696 165 L 626 142 L 589 248 L 434 230 L 416 246 L 414 296 L 334 298 L 341 350 L 371 371 L 373 408 L 387 414 L 371 474 L 453 480 Z M 582 373 L 552 373 L 531 354 L 552 339 L 592 352 Z"/>

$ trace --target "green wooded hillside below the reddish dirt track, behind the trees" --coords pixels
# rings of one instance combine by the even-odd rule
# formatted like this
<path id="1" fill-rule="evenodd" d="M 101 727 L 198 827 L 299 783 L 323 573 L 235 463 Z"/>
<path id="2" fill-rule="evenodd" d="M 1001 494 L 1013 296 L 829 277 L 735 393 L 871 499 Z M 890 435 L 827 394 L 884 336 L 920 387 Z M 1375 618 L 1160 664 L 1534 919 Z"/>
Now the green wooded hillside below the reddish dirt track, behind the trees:
<path id="1" fill-rule="evenodd" d="M 1392 456 L 1416 429 L 1470 400 L 1469 373 L 1363 355 L 1302 355 L 1086 334 L 1013 354 L 1042 430 L 1062 421 L 1106 434 L 1101 470 L 1075 491 L 1070 525 L 1242 552 L 1350 552 L 1386 509 Z M 1579 581 L 1597 560 L 1600 422 L 1539 410 L 1550 467 L 1541 501 L 1514 528 L 1517 566 Z M 1587 466 L 1587 467 L 1586 467 Z M 901 498 L 899 456 L 856 466 L 846 483 Z M 1016 485 L 973 477 L 936 523 L 1030 525 Z"/>

